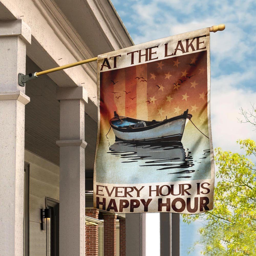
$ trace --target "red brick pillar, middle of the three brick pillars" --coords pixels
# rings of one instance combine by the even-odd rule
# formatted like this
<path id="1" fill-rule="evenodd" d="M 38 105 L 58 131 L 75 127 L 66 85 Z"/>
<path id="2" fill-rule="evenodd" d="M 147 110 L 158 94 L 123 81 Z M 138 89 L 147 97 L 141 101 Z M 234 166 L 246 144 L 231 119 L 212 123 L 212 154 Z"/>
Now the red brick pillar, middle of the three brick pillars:
<path id="1" fill-rule="evenodd" d="M 103 214 L 104 256 L 116 256 L 116 214 Z"/>

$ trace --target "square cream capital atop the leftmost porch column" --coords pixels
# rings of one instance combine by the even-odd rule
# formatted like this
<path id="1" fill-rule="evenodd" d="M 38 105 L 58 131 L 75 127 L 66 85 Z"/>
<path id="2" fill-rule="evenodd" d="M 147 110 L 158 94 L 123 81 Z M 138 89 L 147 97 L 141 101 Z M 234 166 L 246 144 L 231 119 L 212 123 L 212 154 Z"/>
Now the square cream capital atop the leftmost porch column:
<path id="1" fill-rule="evenodd" d="M 22 19 L 0 21 L 0 37 L 2 36 L 19 36 L 27 44 L 31 44 L 31 29 Z"/>

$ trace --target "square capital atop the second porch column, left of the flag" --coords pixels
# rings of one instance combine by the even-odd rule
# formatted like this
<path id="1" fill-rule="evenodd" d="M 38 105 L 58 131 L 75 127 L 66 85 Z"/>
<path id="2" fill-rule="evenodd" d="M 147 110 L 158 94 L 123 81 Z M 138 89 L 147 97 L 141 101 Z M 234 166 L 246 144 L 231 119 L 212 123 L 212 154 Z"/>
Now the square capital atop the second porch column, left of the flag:
<path id="1" fill-rule="evenodd" d="M 58 87 L 56 90 L 57 100 L 82 100 L 88 103 L 88 92 L 82 86 Z"/>

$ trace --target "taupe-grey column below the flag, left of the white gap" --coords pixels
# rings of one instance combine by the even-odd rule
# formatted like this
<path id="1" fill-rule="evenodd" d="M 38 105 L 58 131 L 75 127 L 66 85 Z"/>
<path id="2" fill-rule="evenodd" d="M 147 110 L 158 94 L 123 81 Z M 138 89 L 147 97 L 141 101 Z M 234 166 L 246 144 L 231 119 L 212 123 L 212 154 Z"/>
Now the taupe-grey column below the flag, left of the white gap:
<path id="1" fill-rule="evenodd" d="M 125 214 L 126 224 L 126 256 L 145 256 L 146 214 Z"/>

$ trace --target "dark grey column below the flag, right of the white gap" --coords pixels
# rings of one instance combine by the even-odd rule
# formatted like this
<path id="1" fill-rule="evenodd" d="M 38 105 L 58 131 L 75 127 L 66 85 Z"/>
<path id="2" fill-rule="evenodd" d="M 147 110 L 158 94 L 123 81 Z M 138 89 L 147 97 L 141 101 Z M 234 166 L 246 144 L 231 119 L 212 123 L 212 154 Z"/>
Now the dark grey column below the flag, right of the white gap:
<path id="1" fill-rule="evenodd" d="M 179 214 L 160 212 L 160 255 L 179 256 Z"/>

